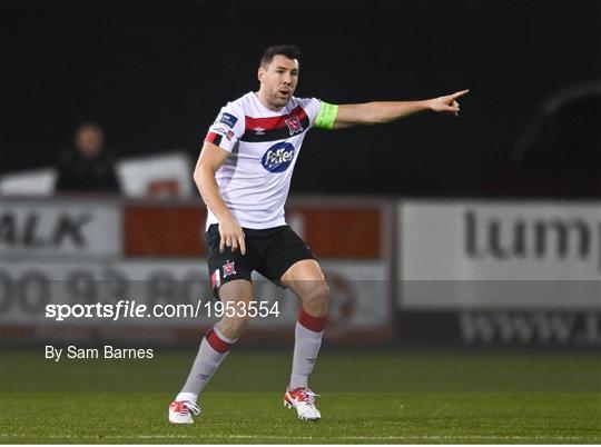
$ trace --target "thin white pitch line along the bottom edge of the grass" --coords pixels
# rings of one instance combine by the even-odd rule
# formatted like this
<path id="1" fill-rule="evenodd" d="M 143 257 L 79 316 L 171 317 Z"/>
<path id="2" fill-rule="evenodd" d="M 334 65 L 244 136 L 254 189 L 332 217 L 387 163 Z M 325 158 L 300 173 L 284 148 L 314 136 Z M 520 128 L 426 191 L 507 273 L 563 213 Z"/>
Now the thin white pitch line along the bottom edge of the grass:
<path id="1" fill-rule="evenodd" d="M 0 437 L 13 437 L 24 438 L 31 435 L 26 434 L 0 434 Z M 333 436 L 333 437 L 317 437 L 317 436 L 274 436 L 274 435 L 210 435 L 210 436 L 193 436 L 193 435 L 107 435 L 107 436 L 92 436 L 92 435 L 48 435 L 41 436 L 41 438 L 81 438 L 81 439 L 294 439 L 294 440 L 452 440 L 452 439 L 484 439 L 484 440 L 601 440 L 601 437 L 597 438 L 583 438 L 578 436 L 496 436 L 496 435 L 424 435 L 424 436 Z"/>

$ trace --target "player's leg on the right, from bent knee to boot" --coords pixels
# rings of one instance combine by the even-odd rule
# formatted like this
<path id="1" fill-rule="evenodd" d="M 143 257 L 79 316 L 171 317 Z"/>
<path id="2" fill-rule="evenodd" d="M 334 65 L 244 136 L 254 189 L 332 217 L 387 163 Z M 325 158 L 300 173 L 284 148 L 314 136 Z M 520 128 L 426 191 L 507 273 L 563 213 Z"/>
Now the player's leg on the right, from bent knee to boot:
<path id="1" fill-rule="evenodd" d="M 326 325 L 328 287 L 315 259 L 295 262 L 283 275 L 282 284 L 300 299 L 302 309 L 295 327 L 293 368 L 285 405 L 295 407 L 299 418 L 317 420 L 315 395 L 308 388 Z"/>

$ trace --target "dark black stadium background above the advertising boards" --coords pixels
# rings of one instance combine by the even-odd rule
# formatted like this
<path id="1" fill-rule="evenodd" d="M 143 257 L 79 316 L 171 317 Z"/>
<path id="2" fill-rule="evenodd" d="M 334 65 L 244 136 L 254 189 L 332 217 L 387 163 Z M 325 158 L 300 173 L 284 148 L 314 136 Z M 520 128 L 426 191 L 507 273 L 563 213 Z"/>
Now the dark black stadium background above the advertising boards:
<path id="1" fill-rule="evenodd" d="M 472 89 L 459 120 L 314 132 L 293 192 L 601 190 L 556 166 L 536 173 L 561 177 L 541 190 L 514 149 L 545 98 L 601 77 L 595 0 L 3 0 L 1 16 L 1 172 L 51 165 L 86 119 L 119 156 L 178 148 L 196 158 L 218 108 L 256 89 L 263 49 L 293 42 L 303 50 L 299 96 L 344 103 Z"/>

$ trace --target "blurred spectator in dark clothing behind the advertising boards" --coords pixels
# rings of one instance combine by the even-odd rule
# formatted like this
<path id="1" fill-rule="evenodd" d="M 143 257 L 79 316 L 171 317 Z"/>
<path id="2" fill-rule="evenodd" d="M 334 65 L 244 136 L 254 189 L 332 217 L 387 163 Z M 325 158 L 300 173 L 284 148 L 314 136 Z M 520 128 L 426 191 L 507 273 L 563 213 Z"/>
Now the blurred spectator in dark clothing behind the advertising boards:
<path id="1" fill-rule="evenodd" d="M 105 133 L 92 122 L 80 125 L 73 148 L 60 157 L 57 192 L 119 192 L 115 158 L 105 149 Z"/>

